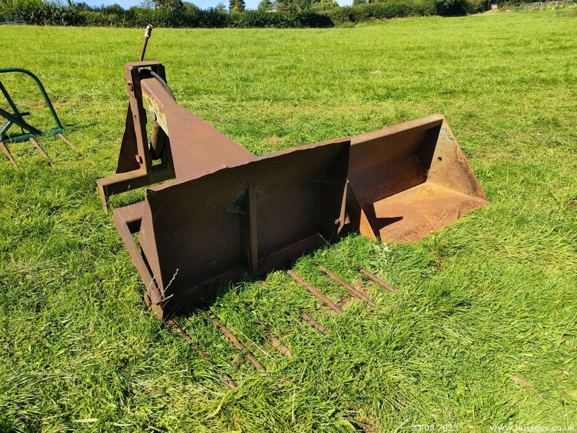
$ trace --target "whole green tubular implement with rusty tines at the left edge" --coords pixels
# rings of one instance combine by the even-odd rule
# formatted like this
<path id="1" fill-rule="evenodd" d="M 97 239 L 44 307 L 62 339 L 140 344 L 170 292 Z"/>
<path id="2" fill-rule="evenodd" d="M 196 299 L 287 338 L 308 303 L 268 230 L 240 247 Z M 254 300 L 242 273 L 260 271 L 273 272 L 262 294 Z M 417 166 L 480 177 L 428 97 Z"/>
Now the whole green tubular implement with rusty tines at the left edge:
<path id="1" fill-rule="evenodd" d="M 46 152 L 44 152 L 42 147 L 40 147 L 38 142 L 34 139 L 35 136 L 39 135 L 57 134 L 58 137 L 60 137 L 66 144 L 68 144 L 70 148 L 80 153 L 80 151 L 76 147 L 74 147 L 72 143 L 70 143 L 70 141 L 66 139 L 65 136 L 62 135 L 62 132 L 64 132 L 64 128 L 62 127 L 58 115 L 56 114 L 56 111 L 54 110 L 54 107 L 50 102 L 50 98 L 48 98 L 46 90 L 44 89 L 44 86 L 40 82 L 39 78 L 27 69 L 0 68 L 0 74 L 10 72 L 19 72 L 27 74 L 28 76 L 32 77 L 34 81 L 36 81 L 36 84 L 38 84 L 38 88 L 40 89 L 40 93 L 42 93 L 42 97 L 44 98 L 44 102 L 46 102 L 46 106 L 48 107 L 48 110 L 50 110 L 50 113 L 52 114 L 52 117 L 54 118 L 54 122 L 56 124 L 56 128 L 41 130 L 25 121 L 24 116 L 28 116 L 30 115 L 30 113 L 18 110 L 18 107 L 16 107 L 14 100 L 10 98 L 8 91 L 2 84 L 2 81 L 0 81 L 0 92 L 2 92 L 4 98 L 6 98 L 6 101 L 8 102 L 10 109 L 12 109 L 12 113 L 10 113 L 9 111 L 0 108 L 0 116 L 6 119 L 6 122 L 2 126 L 0 126 L 0 148 L 2 148 L 2 151 L 6 154 L 6 156 L 8 157 L 10 162 L 14 165 L 14 167 L 16 167 L 17 170 L 20 170 L 18 169 L 18 165 L 16 164 L 16 161 L 14 161 L 14 158 L 12 158 L 12 155 L 10 155 L 8 147 L 6 147 L 5 143 L 14 143 L 16 141 L 25 141 L 25 140 L 31 141 L 36 150 L 38 150 L 40 154 L 44 156 L 44 158 L 46 158 L 48 163 L 50 163 L 50 166 L 56 167 L 52 162 L 52 160 L 50 159 L 50 157 L 46 155 Z M 8 130 L 12 125 L 20 126 L 21 132 L 13 135 L 8 135 Z M 91 162 L 88 158 L 86 159 L 88 160 L 88 162 Z"/>

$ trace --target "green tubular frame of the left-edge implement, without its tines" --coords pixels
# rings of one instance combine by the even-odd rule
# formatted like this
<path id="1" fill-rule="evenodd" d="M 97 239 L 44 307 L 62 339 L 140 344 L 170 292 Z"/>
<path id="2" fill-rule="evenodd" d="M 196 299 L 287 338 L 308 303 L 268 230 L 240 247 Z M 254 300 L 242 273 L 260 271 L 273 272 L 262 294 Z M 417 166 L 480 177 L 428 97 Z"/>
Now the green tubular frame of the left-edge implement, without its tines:
<path id="1" fill-rule="evenodd" d="M 30 113 L 22 113 L 21 111 L 18 110 L 16 104 L 14 104 L 14 101 L 12 100 L 12 98 L 10 98 L 8 91 L 6 91 L 6 88 L 2 84 L 2 81 L 0 81 L 0 91 L 8 101 L 8 104 L 10 105 L 10 108 L 13 111 L 13 113 L 9 113 L 8 111 L 0 108 L 0 116 L 6 119 L 5 124 L 3 124 L 2 127 L 0 128 L 0 141 L 11 143 L 14 141 L 25 141 L 37 135 L 60 134 L 64 132 L 64 128 L 62 128 L 62 124 L 58 118 L 58 115 L 56 114 L 56 111 L 54 111 L 54 107 L 50 102 L 50 98 L 48 98 L 46 90 L 44 90 L 44 86 L 42 85 L 38 77 L 35 76 L 35 74 L 30 72 L 29 70 L 23 68 L 0 68 L 0 74 L 8 72 L 24 73 L 32 77 L 32 79 L 36 81 L 36 84 L 38 84 L 38 87 L 40 89 L 40 93 L 42 93 L 44 101 L 46 102 L 46 105 L 48 106 L 48 109 L 50 110 L 50 113 L 52 114 L 52 117 L 56 122 L 56 128 L 48 130 L 40 130 L 38 128 L 35 128 L 35 126 L 29 124 L 27 121 L 25 121 L 24 116 L 27 116 Z M 10 126 L 12 125 L 20 126 L 22 132 L 20 134 L 9 136 L 8 129 L 10 129 Z"/>

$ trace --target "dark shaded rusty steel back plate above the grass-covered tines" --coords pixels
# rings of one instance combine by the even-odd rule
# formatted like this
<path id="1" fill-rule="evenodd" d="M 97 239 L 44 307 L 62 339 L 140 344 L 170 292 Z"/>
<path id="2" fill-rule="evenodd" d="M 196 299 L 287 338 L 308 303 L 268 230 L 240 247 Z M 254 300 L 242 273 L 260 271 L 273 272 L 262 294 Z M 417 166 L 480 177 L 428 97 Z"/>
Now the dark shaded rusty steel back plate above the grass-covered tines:
<path id="1" fill-rule="evenodd" d="M 166 308 L 334 240 L 348 150 L 346 139 L 312 144 L 149 188 L 139 240 Z"/>

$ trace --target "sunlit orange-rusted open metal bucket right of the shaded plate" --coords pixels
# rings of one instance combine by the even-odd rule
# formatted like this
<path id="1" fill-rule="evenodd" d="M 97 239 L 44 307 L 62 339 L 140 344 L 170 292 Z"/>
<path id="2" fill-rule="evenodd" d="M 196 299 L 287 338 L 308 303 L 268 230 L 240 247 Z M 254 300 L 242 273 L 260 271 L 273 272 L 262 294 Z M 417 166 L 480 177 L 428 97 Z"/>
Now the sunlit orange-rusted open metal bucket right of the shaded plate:
<path id="1" fill-rule="evenodd" d="M 415 242 L 486 204 L 440 114 L 351 137 L 347 212 L 369 238 Z"/>

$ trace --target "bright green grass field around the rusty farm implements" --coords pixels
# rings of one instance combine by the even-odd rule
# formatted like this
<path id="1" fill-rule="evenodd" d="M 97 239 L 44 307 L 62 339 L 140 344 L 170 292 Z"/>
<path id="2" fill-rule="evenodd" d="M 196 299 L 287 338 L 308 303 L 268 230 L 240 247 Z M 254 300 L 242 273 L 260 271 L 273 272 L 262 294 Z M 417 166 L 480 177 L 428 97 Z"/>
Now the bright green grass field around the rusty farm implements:
<path id="1" fill-rule="evenodd" d="M 155 29 L 147 58 L 177 100 L 265 154 L 444 114 L 489 206 L 413 245 L 357 234 L 271 288 L 223 288 L 176 320 L 238 383 L 143 304 L 144 285 L 102 211 L 126 113 L 123 65 L 141 29 L 0 28 L 0 66 L 43 80 L 66 135 L 0 155 L 0 431 L 411 432 L 411 424 L 577 424 L 577 18 L 554 12 L 414 18 L 347 29 Z M 39 94 L 3 83 L 49 126 Z M 2 106 L 5 104 L 2 103 Z M 32 121 L 31 120 L 31 121 Z M 116 196 L 113 206 L 142 191 Z M 399 290 L 359 278 L 362 265 Z M 314 313 L 324 336 L 298 316 Z M 295 356 L 276 352 L 269 325 Z M 436 431 L 440 428 L 437 427 Z"/>

